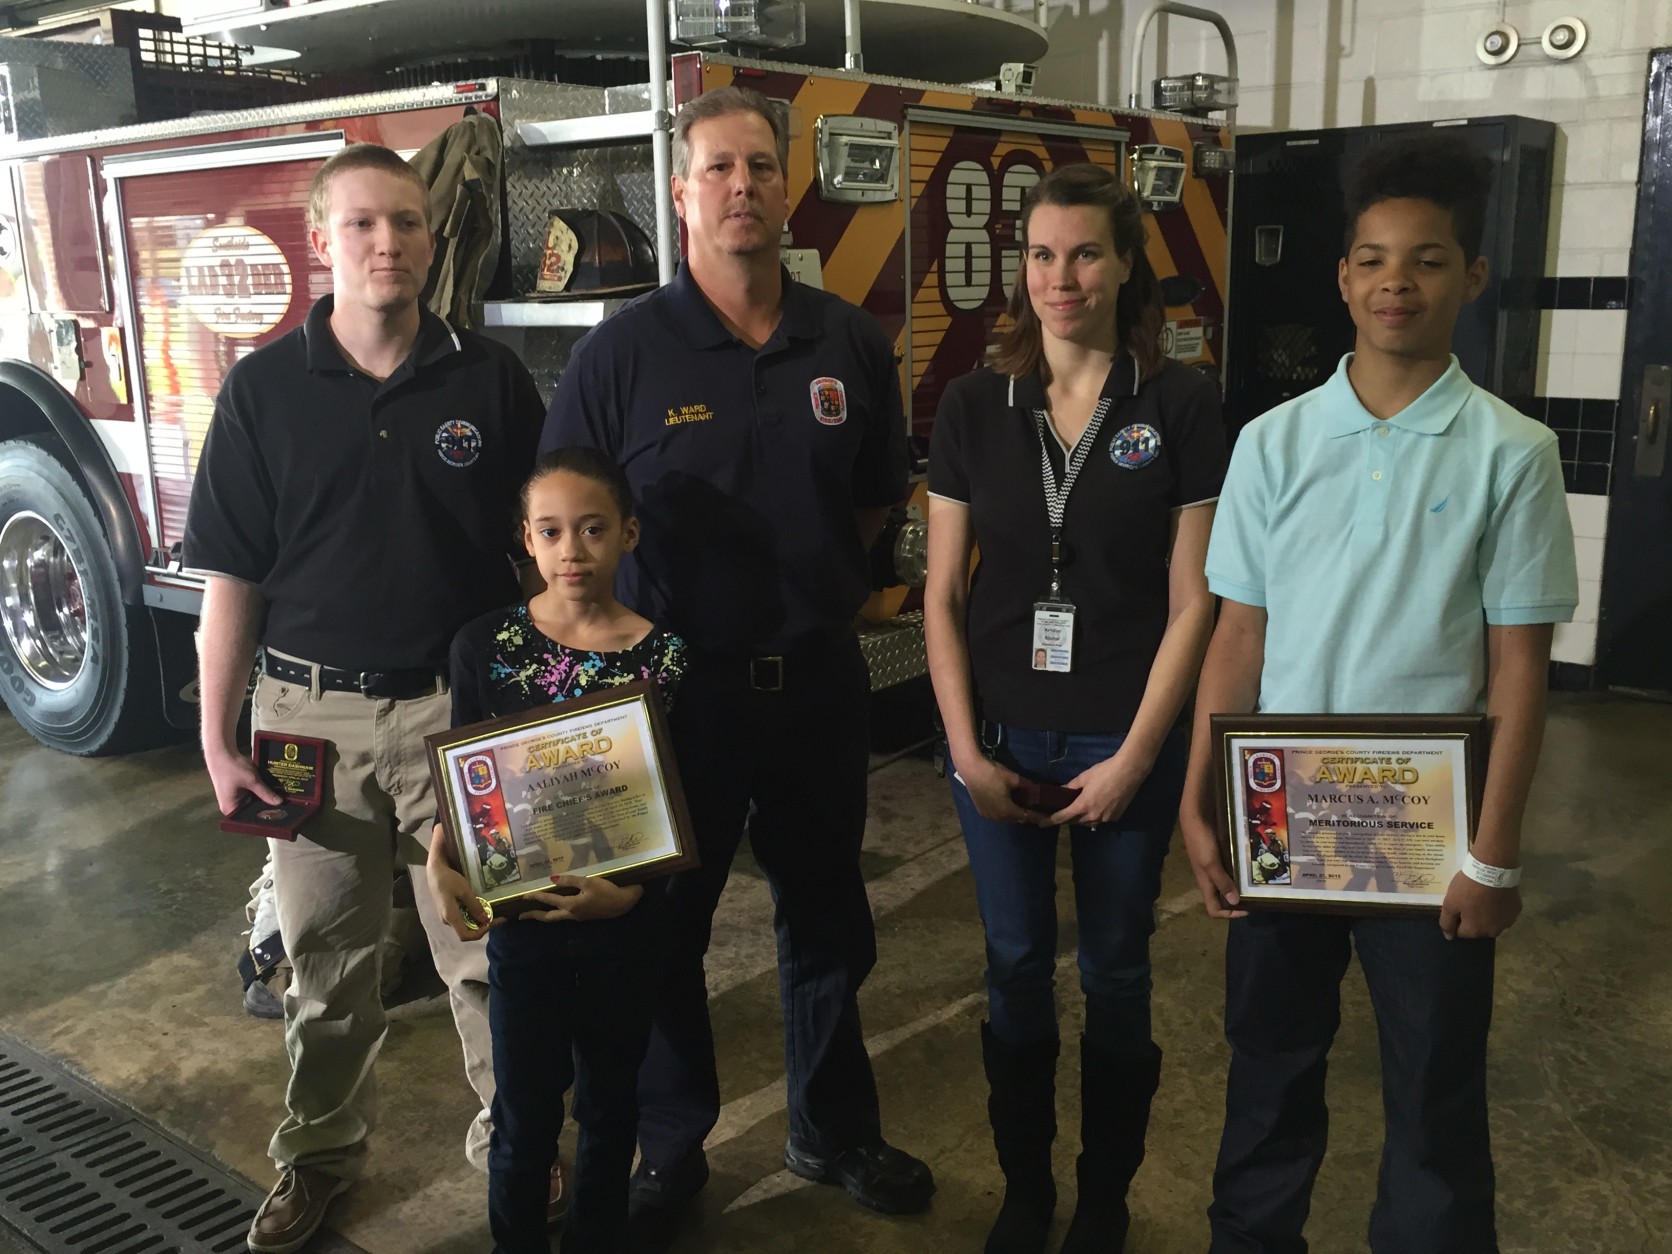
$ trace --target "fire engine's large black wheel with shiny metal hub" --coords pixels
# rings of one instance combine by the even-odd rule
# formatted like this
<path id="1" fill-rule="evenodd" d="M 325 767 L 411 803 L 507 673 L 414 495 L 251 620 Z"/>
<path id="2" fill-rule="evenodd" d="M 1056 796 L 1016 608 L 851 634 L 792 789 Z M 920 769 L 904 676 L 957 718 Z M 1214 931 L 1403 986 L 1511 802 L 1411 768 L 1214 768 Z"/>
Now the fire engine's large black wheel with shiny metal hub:
<path id="1" fill-rule="evenodd" d="M 69 465 L 48 435 L 0 443 L 0 696 L 42 744 L 125 752 L 164 727 L 157 649 Z"/>

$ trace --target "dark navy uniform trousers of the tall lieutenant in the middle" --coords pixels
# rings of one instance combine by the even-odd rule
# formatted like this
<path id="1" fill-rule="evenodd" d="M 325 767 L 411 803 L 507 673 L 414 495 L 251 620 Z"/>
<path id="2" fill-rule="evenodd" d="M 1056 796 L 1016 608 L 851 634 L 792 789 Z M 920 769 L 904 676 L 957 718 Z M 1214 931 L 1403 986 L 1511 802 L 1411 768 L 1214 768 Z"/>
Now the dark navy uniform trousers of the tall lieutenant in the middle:
<path id="1" fill-rule="evenodd" d="M 864 838 L 869 674 L 854 637 L 771 660 L 694 657 L 674 744 L 702 866 L 667 881 L 667 966 L 639 1073 L 639 1147 L 669 1167 L 719 1119 L 704 955 L 744 831 L 772 890 L 789 1134 L 829 1155 L 874 1140 L 858 993 L 876 963 Z"/>

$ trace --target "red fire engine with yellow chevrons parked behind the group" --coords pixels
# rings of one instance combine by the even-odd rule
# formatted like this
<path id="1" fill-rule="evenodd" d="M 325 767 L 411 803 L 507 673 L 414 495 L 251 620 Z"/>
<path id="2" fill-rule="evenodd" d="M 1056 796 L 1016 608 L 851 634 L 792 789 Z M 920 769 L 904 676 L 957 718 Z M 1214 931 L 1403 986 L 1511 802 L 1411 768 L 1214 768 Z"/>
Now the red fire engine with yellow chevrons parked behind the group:
<path id="1" fill-rule="evenodd" d="M 986 74 L 1010 60 L 1002 48 L 1017 45 L 1013 32 L 1027 35 L 1018 60 L 1045 47 L 1037 25 L 1008 13 L 896 2 L 965 10 L 953 15 L 960 22 L 1002 17 L 1010 45 L 983 54 Z M 273 12 L 261 13 L 268 27 L 246 23 L 236 37 L 284 38 L 279 18 L 289 18 L 306 35 L 298 45 L 338 48 L 336 65 L 323 54 L 314 64 L 341 70 L 333 32 L 351 27 L 331 23 L 368 22 L 400 3 L 246 5 Z M 470 8 L 445 5 L 455 15 Z M 630 7 L 607 8 L 619 17 Z M 659 0 L 647 8 L 665 13 Z M 1130 174 L 1152 212 L 1149 252 L 1164 278 L 1170 351 L 1217 375 L 1229 127 L 1206 114 L 1224 99 L 1185 99 L 1185 109 L 1200 105 L 1194 112 L 1110 110 L 1017 94 L 1027 77 L 1017 67 L 983 90 L 709 50 L 667 57 L 657 20 L 649 25 L 649 64 L 669 65 L 670 97 L 655 75 L 625 85 L 535 77 L 563 57 L 542 62 L 527 48 L 497 62 L 520 75 L 482 70 L 430 84 L 435 70 L 425 65 L 406 79 L 418 74 L 428 85 L 344 95 L 341 79 L 251 70 L 236 47 L 109 15 L 112 47 L 130 57 L 137 115 L 155 120 L 94 119 L 77 134 L 38 137 L 27 105 L 37 107 L 33 125 L 50 129 L 38 105 L 50 104 L 54 84 L 60 99 L 74 95 L 62 92 L 62 75 L 75 64 L 13 72 L 20 54 L 10 45 L 40 40 L 0 40 L 0 124 L 10 127 L 0 144 L 0 692 L 25 729 L 94 754 L 196 726 L 191 634 L 202 589 L 179 567 L 192 472 L 226 370 L 298 326 L 329 288 L 303 212 L 314 169 L 344 144 L 415 152 L 470 109 L 497 119 L 503 241 L 478 319 L 518 346 L 547 390 L 575 338 L 614 308 L 530 299 L 552 212 L 607 207 L 672 241 L 669 110 L 732 80 L 782 102 L 793 135 L 786 263 L 895 336 L 920 453 L 943 386 L 980 361 L 1002 318 L 1022 196 L 1060 162 Z M 85 45 L 77 55 L 94 57 Z M 895 64 L 913 55 L 896 48 Z M 450 62 L 466 75 L 480 64 Z M 147 84 L 172 95 L 159 104 Z M 269 104 L 236 107 L 241 100 Z M 204 102 L 217 112 L 167 115 Z M 664 279 L 674 249 L 660 249 Z M 906 567 L 921 560 L 920 532 L 896 528 L 893 545 Z M 923 670 L 906 575 L 879 577 L 890 587 L 866 609 L 876 686 Z"/>

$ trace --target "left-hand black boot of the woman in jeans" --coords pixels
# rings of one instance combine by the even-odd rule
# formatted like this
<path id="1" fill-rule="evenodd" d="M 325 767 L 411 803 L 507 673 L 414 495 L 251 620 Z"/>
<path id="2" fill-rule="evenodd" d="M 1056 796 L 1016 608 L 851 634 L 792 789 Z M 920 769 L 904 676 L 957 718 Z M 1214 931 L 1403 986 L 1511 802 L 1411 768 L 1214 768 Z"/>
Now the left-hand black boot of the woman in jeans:
<path id="1" fill-rule="evenodd" d="M 1005 1204 L 986 1254 L 1043 1254 L 1057 1209 L 1050 1144 L 1057 1139 L 1057 1038 L 1013 1048 L 981 1025 L 986 1119 L 1005 1174 Z"/>

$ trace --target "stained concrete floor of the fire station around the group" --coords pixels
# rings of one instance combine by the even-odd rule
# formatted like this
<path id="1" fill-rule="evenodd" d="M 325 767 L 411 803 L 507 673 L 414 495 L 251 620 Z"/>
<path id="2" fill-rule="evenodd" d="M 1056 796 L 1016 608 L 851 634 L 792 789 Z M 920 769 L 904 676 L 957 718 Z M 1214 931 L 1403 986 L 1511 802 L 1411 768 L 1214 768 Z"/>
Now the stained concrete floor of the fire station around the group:
<path id="1" fill-rule="evenodd" d="M 1498 966 L 1491 1100 L 1506 1254 L 1672 1249 L 1669 749 L 1669 706 L 1553 702 L 1527 833 L 1527 913 Z M 242 1013 L 232 970 L 261 849 L 216 829 L 196 752 L 77 761 L 37 747 L 0 714 L 0 1032 L 266 1187 L 284 1055 L 279 1027 Z M 727 1105 L 684 1254 L 809 1239 L 819 1254 L 981 1247 L 997 1207 L 976 1045 L 981 935 L 945 786 L 926 762 L 873 776 L 866 874 L 881 958 L 863 1005 L 884 1124 L 935 1167 L 935 1207 L 883 1219 L 782 1170 L 767 896 L 741 863 L 711 956 Z M 1068 951 L 1072 896 L 1062 901 Z M 1129 1251 L 1184 1254 L 1206 1244 L 1226 1053 L 1222 940 L 1177 851 L 1160 908 L 1155 1022 L 1167 1070 Z M 1072 980 L 1065 993 L 1072 1042 Z M 385 1115 L 370 1174 L 334 1206 L 333 1226 L 371 1254 L 483 1254 L 483 1177 L 461 1154 L 472 1104 L 445 998 L 423 980 L 405 997 L 380 1062 Z M 1364 1249 L 1376 1077 L 1368 1000 L 1349 975 L 1329 1077 L 1333 1147 L 1309 1231 L 1321 1254 Z M 1075 1083 L 1065 1073 L 1068 1130 Z M 1065 1184 L 1073 1149 L 1058 1144 Z M 1070 1204 L 1065 1194 L 1065 1212 Z"/>

